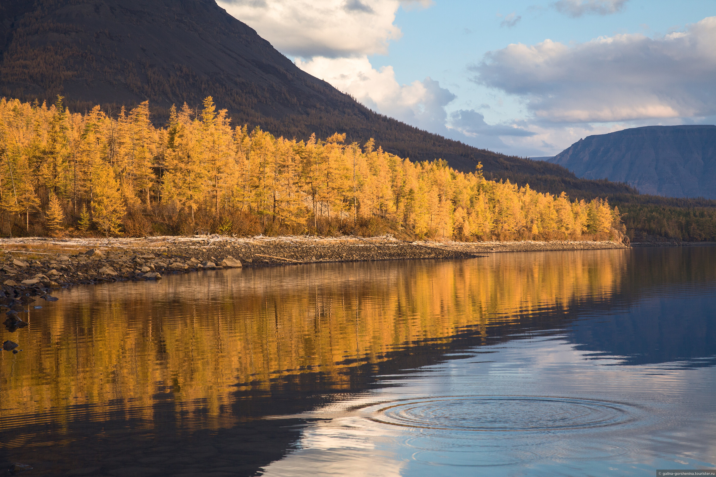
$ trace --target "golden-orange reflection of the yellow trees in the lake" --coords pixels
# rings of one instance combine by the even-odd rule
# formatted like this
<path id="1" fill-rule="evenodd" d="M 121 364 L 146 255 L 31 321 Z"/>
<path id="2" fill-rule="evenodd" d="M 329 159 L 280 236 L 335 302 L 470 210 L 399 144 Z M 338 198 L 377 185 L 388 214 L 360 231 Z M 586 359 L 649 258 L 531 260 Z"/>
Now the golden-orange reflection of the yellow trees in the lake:
<path id="1" fill-rule="evenodd" d="M 628 253 L 309 265 L 73 290 L 14 335 L 23 353 L 2 355 L 2 427 L 62 431 L 106 413 L 151 426 L 158 402 L 172 403 L 182 428 L 221 427 L 242 396 L 276 393 L 287 377 L 351 390 L 353 369 L 397 353 L 608 300 Z"/>

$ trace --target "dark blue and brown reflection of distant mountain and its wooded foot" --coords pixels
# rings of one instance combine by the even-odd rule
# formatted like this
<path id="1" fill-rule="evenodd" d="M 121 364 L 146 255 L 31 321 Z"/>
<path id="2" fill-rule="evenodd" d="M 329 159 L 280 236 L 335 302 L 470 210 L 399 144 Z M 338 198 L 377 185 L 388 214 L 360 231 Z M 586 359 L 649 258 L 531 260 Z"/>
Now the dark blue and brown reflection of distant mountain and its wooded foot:
<path id="1" fill-rule="evenodd" d="M 714 250 L 633 250 L 621 280 L 621 294 L 598 318 L 580 320 L 569 340 L 578 350 L 619 356 L 624 365 L 714 365 Z"/>

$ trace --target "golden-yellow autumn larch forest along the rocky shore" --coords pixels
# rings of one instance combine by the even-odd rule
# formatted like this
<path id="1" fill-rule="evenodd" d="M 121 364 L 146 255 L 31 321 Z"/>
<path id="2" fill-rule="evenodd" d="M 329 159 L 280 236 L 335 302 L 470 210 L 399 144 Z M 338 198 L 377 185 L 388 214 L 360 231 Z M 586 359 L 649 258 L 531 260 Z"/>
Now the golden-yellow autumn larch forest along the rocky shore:
<path id="1" fill-rule="evenodd" d="M 144 102 L 116 118 L 0 101 L 3 235 L 360 233 L 387 224 L 458 240 L 609 237 L 606 200 L 570 201 L 411 162 L 344 134 L 308 141 L 231 127 L 211 97 L 173 107 L 165 127 Z M 361 229 L 363 227 L 363 229 Z M 367 228 L 366 228 L 367 227 Z"/>

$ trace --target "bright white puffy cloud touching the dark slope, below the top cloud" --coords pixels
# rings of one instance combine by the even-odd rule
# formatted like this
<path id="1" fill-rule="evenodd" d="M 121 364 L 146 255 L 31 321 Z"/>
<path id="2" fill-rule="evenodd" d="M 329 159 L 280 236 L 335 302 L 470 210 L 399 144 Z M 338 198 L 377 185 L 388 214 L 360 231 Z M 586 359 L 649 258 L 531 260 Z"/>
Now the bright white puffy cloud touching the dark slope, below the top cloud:
<path id="1" fill-rule="evenodd" d="M 316 57 L 296 60 L 296 66 L 351 94 L 367 107 L 421 129 L 444 134 L 448 114 L 445 106 L 455 99 L 448 89 L 425 78 L 399 84 L 393 67 L 372 67 L 367 56 L 360 58 Z"/>

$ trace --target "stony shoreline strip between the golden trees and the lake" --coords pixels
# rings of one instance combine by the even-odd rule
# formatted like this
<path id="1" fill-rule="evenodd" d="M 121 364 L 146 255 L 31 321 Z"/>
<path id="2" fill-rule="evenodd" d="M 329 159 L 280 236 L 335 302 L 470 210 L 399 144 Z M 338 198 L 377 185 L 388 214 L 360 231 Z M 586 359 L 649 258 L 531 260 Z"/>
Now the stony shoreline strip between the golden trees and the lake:
<path id="1" fill-rule="evenodd" d="M 385 237 L 145 237 L 141 239 L 0 239 L 0 308 L 10 331 L 21 313 L 53 289 L 163 275 L 317 262 L 474 258 L 494 252 L 627 248 L 621 242 L 402 242 Z M 4 343 L 12 350 L 14 343 Z M 9 348 L 9 349 L 8 349 Z"/>

